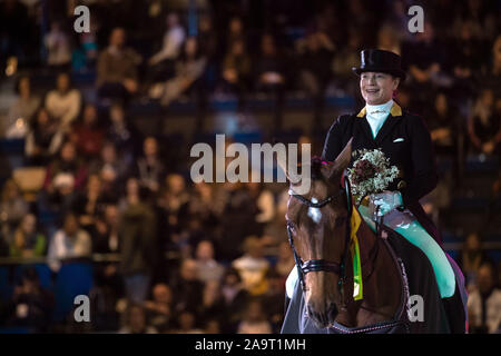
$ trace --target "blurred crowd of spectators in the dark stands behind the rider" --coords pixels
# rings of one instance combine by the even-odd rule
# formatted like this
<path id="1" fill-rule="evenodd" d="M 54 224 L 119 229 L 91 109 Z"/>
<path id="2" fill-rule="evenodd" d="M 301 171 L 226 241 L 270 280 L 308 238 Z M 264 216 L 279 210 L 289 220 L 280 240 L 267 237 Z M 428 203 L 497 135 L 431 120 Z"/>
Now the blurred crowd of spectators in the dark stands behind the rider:
<path id="1" fill-rule="evenodd" d="M 233 97 L 245 115 L 249 98 L 264 95 L 279 128 L 286 96 L 299 90 L 321 127 L 326 96 L 361 100 L 351 68 L 360 50 L 377 47 L 402 55 L 410 78 L 397 101 L 426 119 L 439 159 L 456 160 L 459 150 L 499 156 L 499 2 L 423 3 L 422 33 L 407 31 L 407 8 L 419 1 L 171 2 L 0 3 L 1 76 L 16 72 L 17 95 L 0 131 L 24 139 L 28 165 L 45 167 L 31 199 L 14 179 L 3 184 L 0 256 L 46 256 L 52 277 L 69 260 L 119 256 L 95 264 L 89 330 L 276 333 L 294 266 L 286 187 L 193 184 L 189 161 L 135 126 L 134 102 L 188 99 L 204 117 L 212 98 Z M 87 33 L 73 31 L 81 3 L 90 9 Z M 41 69 L 55 82 L 40 96 L 32 78 Z M 88 72 L 91 98 L 72 80 Z M 500 265 L 475 234 L 460 261 L 472 330 L 499 330 Z M 53 307 L 53 293 L 28 267 L 0 319 L 40 332 L 81 327 L 52 323 Z"/>

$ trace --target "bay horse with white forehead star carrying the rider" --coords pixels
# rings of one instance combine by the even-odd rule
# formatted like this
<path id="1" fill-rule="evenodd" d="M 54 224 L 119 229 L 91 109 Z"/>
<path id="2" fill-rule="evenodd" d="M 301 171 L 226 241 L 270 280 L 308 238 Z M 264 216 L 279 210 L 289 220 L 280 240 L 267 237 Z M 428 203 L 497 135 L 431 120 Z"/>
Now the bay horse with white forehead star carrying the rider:
<path id="1" fill-rule="evenodd" d="M 350 141 L 334 162 L 313 158 L 311 167 L 306 167 L 311 169 L 312 180 L 305 195 L 294 191 L 297 184 L 291 181 L 285 162 L 278 161 L 291 181 L 285 218 L 298 275 L 283 333 L 410 332 L 405 268 L 387 240 L 374 234 L 363 218 L 356 229 L 363 298 L 353 298 L 351 220 L 357 212 L 353 210 L 350 185 L 343 174 L 351 161 L 351 154 Z M 429 279 L 434 279 L 431 268 L 429 273 Z M 294 301 L 295 306 L 291 306 Z M 443 316 L 444 313 L 439 313 L 444 312 L 440 304 L 436 299 L 438 306 L 426 306 L 426 317 L 434 314 Z M 441 320 L 436 317 L 434 323 L 439 326 L 433 332 L 451 332 L 445 326 L 446 316 Z"/>

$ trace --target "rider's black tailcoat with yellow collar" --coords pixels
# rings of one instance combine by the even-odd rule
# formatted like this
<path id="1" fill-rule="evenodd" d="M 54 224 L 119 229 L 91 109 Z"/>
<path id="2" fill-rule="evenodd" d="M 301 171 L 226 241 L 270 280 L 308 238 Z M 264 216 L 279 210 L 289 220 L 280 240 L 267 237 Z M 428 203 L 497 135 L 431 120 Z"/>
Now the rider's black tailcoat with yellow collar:
<path id="1" fill-rule="evenodd" d="M 374 139 L 365 118 L 365 108 L 358 115 L 342 115 L 328 130 L 322 158 L 335 160 L 352 137 L 352 152 L 380 148 L 390 158 L 391 165 L 399 167 L 401 177 L 389 189 L 401 191 L 405 207 L 441 245 L 439 231 L 419 202 L 438 182 L 433 146 L 423 119 L 402 110 L 395 102 Z M 355 159 L 352 157 L 351 165 Z"/>

